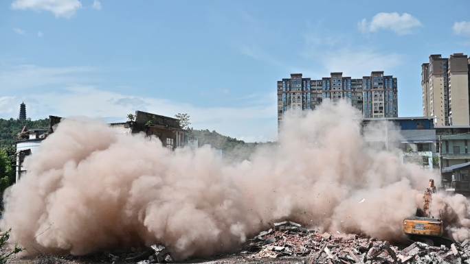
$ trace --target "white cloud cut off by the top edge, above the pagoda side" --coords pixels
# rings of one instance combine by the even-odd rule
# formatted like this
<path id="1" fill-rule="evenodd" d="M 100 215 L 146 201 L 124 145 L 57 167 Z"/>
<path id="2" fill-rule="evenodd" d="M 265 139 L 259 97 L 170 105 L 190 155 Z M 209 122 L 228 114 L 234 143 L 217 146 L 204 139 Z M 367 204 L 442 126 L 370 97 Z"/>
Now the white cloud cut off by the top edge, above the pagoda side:
<path id="1" fill-rule="evenodd" d="M 14 10 L 49 11 L 56 17 L 70 18 L 75 12 L 82 8 L 78 0 L 14 0 Z"/>

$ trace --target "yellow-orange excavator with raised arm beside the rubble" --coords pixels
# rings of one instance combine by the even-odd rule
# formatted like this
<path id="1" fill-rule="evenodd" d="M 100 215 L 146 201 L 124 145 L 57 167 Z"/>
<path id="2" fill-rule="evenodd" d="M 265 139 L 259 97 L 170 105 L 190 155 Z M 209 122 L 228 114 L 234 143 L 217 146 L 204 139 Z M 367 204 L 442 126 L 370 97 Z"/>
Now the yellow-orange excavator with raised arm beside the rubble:
<path id="1" fill-rule="evenodd" d="M 442 217 L 434 217 L 429 212 L 433 193 L 436 193 L 436 186 L 434 180 L 430 179 L 424 192 L 423 208 L 416 209 L 416 216 L 403 220 L 403 232 L 413 241 L 450 247 L 452 240 L 445 237 Z"/>

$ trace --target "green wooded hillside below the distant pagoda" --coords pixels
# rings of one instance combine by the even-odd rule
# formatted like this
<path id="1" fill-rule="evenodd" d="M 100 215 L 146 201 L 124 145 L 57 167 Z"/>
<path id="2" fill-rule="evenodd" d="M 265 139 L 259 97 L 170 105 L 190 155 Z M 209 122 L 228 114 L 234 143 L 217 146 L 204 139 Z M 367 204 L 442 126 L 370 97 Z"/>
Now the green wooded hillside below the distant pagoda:
<path id="1" fill-rule="evenodd" d="M 48 129 L 49 119 L 39 119 L 36 121 L 18 119 L 0 119 L 0 147 L 8 147 L 16 141 L 16 135 L 21 132 L 23 126 L 32 129 Z"/>

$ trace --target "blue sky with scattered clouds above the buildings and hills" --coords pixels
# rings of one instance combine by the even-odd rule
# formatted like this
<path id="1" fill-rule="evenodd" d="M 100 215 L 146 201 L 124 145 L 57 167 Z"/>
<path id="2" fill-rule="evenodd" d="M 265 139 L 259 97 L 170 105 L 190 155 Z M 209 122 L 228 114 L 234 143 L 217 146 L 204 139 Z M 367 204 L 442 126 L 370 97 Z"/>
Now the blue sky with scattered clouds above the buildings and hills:
<path id="1" fill-rule="evenodd" d="M 276 139 L 276 81 L 398 77 L 421 116 L 421 64 L 469 53 L 470 1 L 0 1 L 0 117 L 124 121 L 188 112 L 194 128 Z"/>

